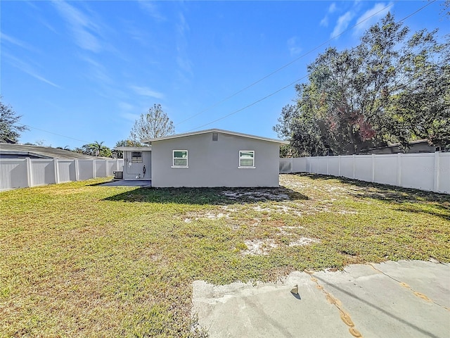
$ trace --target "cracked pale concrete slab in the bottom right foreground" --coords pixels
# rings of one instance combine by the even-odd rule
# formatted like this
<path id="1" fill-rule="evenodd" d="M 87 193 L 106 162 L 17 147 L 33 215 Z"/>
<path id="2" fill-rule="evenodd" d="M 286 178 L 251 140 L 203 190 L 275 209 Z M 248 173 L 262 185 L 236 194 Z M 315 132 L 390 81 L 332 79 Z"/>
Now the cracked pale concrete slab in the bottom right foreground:
<path id="1" fill-rule="evenodd" d="M 298 294 L 291 289 L 298 285 Z M 193 283 L 210 337 L 450 337 L 450 265 L 399 261 L 283 282 Z"/>

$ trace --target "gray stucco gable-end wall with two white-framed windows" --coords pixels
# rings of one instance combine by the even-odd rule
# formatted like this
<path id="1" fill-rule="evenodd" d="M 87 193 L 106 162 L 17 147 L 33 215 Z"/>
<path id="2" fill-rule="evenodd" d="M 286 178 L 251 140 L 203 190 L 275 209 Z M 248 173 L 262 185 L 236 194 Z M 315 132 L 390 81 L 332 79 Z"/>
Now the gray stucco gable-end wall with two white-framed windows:
<path id="1" fill-rule="evenodd" d="M 279 144 L 219 132 L 152 142 L 153 187 L 278 187 Z M 172 168 L 173 150 L 188 151 L 188 168 Z M 240 169 L 239 151 L 255 151 L 255 167 Z"/>

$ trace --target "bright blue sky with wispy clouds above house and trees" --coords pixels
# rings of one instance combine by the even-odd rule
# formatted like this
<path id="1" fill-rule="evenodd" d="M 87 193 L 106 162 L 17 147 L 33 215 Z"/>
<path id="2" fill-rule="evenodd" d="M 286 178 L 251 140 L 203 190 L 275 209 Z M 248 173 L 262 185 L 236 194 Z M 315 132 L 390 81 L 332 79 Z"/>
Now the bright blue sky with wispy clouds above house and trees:
<path id="1" fill-rule="evenodd" d="M 113 147 L 153 104 L 177 133 L 276 137 L 293 82 L 319 53 L 356 46 L 387 11 L 401 20 L 428 3 L 1 1 L 0 93 L 30 126 L 22 143 Z M 436 1 L 404 24 L 443 37 L 441 12 Z"/>

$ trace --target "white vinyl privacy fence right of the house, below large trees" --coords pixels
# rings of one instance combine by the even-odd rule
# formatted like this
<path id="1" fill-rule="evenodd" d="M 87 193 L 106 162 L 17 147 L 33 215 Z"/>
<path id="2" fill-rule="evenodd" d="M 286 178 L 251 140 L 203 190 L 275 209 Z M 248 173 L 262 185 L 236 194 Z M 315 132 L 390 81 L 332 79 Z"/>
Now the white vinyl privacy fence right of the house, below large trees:
<path id="1" fill-rule="evenodd" d="M 450 153 L 280 158 L 280 173 L 316 173 L 450 194 Z"/>

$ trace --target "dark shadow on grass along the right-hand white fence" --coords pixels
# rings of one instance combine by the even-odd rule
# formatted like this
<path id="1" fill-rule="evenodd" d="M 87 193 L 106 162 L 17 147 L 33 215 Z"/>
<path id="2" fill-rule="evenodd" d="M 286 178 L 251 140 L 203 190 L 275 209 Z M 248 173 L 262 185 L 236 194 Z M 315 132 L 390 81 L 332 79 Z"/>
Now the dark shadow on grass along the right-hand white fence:
<path id="1" fill-rule="evenodd" d="M 354 199 L 378 199 L 396 206 L 398 211 L 408 213 L 428 213 L 444 220 L 450 220 L 450 195 L 436 192 L 425 192 L 418 189 L 395 187 L 387 184 L 352 180 L 346 177 L 336 177 L 319 174 L 296 174 L 309 177 L 312 180 L 338 180 L 352 184 L 356 189 L 349 189 L 347 194 Z"/>

